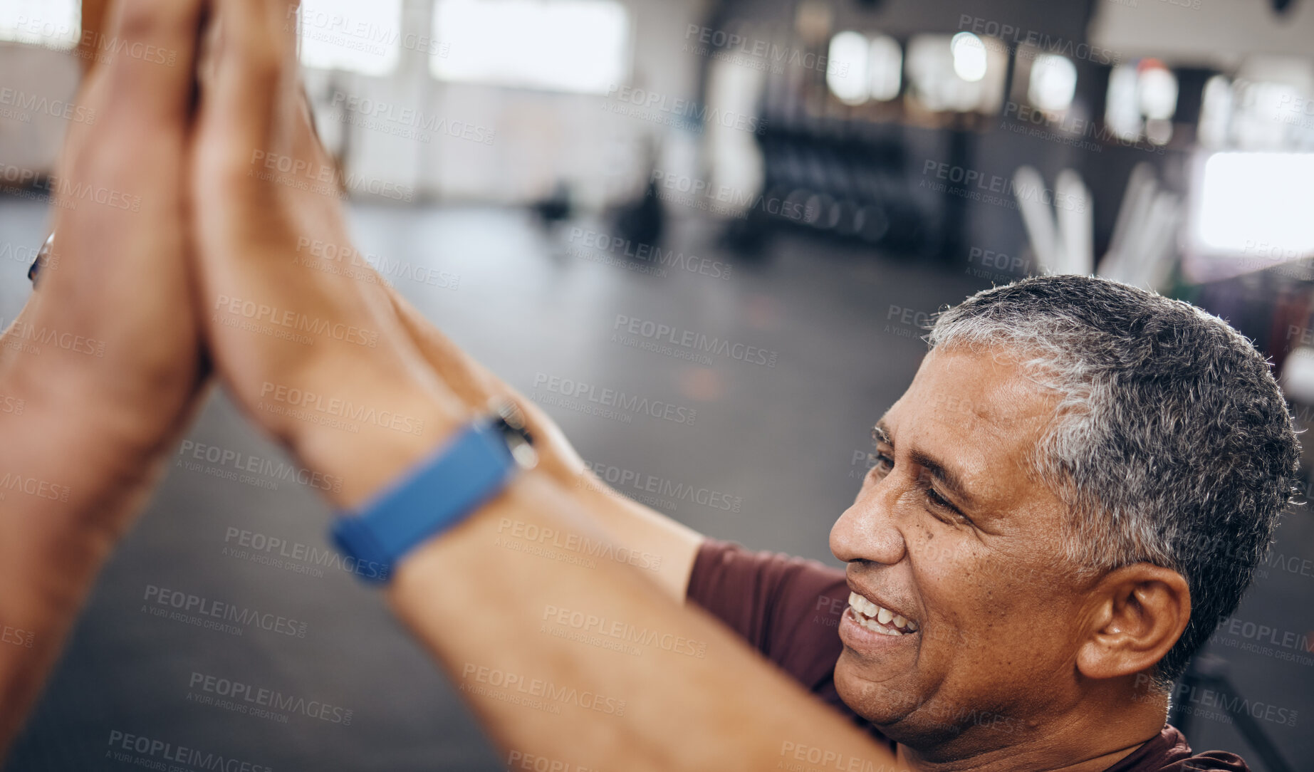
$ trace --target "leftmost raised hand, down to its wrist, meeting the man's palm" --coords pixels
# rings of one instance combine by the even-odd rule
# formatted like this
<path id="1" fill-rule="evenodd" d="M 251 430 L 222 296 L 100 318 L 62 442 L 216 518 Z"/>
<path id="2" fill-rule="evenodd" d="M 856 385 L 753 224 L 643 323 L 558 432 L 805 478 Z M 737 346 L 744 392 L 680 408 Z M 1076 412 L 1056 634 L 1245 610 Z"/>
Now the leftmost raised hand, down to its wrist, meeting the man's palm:
<path id="1" fill-rule="evenodd" d="M 184 180 L 201 7 L 114 5 L 110 38 L 126 45 L 78 97 L 95 122 L 68 127 L 50 182 L 51 252 L 0 349 L 0 378 L 26 403 L 7 441 L 37 420 L 47 437 L 68 427 L 64 475 L 143 486 L 197 402 Z M 91 525 L 118 533 L 130 513 L 102 505 Z"/>

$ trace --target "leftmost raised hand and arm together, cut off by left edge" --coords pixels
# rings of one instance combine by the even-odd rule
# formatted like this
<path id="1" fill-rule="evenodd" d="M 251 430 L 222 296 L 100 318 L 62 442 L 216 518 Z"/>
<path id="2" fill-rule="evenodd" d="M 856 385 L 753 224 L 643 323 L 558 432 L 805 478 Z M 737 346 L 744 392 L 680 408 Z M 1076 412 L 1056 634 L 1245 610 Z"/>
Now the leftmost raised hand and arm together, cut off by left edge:
<path id="1" fill-rule="evenodd" d="M 0 348 L 0 654 L 7 746 L 204 379 L 184 152 L 202 0 L 124 0 L 51 181 L 55 239 Z M 172 64 L 131 51 L 175 53 Z M 3 755 L 3 754 L 0 754 Z"/>

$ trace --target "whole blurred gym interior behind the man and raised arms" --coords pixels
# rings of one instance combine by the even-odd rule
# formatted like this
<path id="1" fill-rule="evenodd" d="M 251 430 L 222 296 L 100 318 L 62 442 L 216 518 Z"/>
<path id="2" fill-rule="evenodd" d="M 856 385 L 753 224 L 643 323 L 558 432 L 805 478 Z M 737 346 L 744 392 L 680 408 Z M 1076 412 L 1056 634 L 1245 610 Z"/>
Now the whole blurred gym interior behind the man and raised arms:
<path id="1" fill-rule="evenodd" d="M 83 68 L 124 55 L 102 16 L 0 0 L 5 322 L 63 134 L 95 121 Z M 1314 415 L 1314 3 L 305 0 L 300 25 L 364 259 L 599 474 L 711 536 L 836 563 L 930 314 L 1029 274 L 1196 302 Z M 114 733 L 277 769 L 505 768 L 289 470 L 212 400 L 7 769 L 152 761 Z M 162 618 L 162 591 L 305 635 Z M 1309 768 L 1311 599 L 1297 508 L 1183 685 L 1197 750 Z M 197 704 L 197 674 L 351 719 Z"/>

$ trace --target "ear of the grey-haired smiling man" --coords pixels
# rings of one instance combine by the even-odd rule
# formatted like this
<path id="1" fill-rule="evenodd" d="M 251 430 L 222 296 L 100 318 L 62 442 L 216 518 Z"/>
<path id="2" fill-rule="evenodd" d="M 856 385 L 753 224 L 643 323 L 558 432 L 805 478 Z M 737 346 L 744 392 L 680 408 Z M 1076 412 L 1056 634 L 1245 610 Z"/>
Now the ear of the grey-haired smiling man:
<path id="1" fill-rule="evenodd" d="M 1091 679 L 1151 668 L 1190 621 L 1187 579 L 1162 566 L 1134 563 L 1104 576 L 1089 595 L 1087 639 L 1076 666 Z"/>

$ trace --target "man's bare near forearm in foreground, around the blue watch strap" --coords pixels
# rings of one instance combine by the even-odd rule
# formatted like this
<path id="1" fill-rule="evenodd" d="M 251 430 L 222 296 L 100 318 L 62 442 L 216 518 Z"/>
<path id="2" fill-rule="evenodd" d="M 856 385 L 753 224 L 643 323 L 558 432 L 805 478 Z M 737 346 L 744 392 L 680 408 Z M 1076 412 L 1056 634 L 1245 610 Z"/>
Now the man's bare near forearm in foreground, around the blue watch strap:
<path id="1" fill-rule="evenodd" d="M 352 479 L 342 505 L 401 477 L 463 418 L 423 386 L 389 389 L 390 403 L 427 411 L 435 431 L 348 440 L 306 425 L 292 439 L 307 466 Z M 763 769 L 808 747 L 863 769 L 892 764 L 729 630 L 619 559 L 595 500 L 547 471 L 524 473 L 394 567 L 394 611 L 509 754 L 570 769 Z M 528 533 L 566 546 L 543 555 L 526 549 Z"/>

